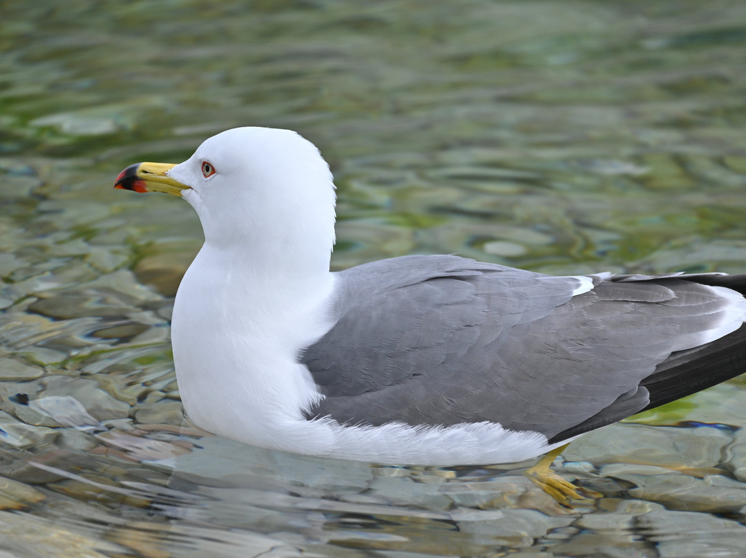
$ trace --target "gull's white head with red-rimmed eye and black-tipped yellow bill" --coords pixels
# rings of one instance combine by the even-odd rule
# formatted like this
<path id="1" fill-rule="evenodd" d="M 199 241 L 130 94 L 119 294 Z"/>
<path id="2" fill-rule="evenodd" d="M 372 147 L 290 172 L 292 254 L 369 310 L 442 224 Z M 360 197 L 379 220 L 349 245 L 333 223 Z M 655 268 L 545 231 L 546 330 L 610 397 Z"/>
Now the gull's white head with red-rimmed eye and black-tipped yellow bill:
<path id="1" fill-rule="evenodd" d="M 233 128 L 184 163 L 128 167 L 116 187 L 182 195 L 197 211 L 205 244 L 252 266 L 329 269 L 332 176 L 316 146 L 293 131 Z"/>

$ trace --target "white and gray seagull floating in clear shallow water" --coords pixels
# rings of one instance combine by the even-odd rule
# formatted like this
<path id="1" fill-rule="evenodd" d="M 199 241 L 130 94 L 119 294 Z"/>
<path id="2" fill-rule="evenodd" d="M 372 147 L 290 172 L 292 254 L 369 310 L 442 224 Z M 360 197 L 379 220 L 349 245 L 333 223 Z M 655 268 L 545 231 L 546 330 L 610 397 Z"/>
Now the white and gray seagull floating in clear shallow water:
<path id="1" fill-rule="evenodd" d="M 556 277 L 455 255 L 330 272 L 333 178 L 294 131 L 224 131 L 114 187 L 195 209 L 204 245 L 172 316 L 179 392 L 192 422 L 249 445 L 397 465 L 554 459 L 745 372 L 746 275 Z"/>

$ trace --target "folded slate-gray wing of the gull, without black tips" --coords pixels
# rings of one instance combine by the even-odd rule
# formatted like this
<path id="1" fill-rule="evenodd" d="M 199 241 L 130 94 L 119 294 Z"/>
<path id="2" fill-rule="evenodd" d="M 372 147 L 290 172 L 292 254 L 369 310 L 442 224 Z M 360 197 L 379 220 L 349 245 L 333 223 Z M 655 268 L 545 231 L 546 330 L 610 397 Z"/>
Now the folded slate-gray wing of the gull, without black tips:
<path id="1" fill-rule="evenodd" d="M 696 277 L 594 276 L 574 295 L 577 278 L 454 256 L 340 272 L 336 324 L 300 359 L 325 395 L 307 416 L 493 421 L 554 441 L 618 421 L 651 404 L 645 379 L 733 304 Z"/>

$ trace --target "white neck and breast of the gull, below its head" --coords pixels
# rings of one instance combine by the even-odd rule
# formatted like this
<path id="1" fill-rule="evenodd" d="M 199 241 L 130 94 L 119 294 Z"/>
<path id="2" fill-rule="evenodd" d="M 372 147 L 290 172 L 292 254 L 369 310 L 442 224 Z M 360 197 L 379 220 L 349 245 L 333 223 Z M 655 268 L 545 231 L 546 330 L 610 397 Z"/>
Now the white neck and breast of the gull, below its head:
<path id="1" fill-rule="evenodd" d="M 187 414 L 214 433 L 242 424 L 242 441 L 265 447 L 320 397 L 297 359 L 331 325 L 334 281 L 328 270 L 303 284 L 300 275 L 272 279 L 266 271 L 206 243 L 181 282 L 172 319 Z M 288 440 L 288 449 L 298 443 Z"/>

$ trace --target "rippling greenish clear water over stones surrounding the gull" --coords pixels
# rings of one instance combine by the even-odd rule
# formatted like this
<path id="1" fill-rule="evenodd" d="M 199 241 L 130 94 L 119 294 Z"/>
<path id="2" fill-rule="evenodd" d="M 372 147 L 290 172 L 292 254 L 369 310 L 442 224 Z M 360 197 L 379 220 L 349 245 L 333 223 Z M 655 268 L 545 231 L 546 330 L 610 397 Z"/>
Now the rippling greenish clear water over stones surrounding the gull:
<path id="1" fill-rule="evenodd" d="M 333 266 L 744 272 L 746 5 L 33 4 L 0 26 L 2 557 L 742 555 L 745 381 L 583 436 L 562 510 L 497 468 L 264 451 L 181 417 L 191 208 L 114 192 L 236 125 L 301 131 Z"/>

